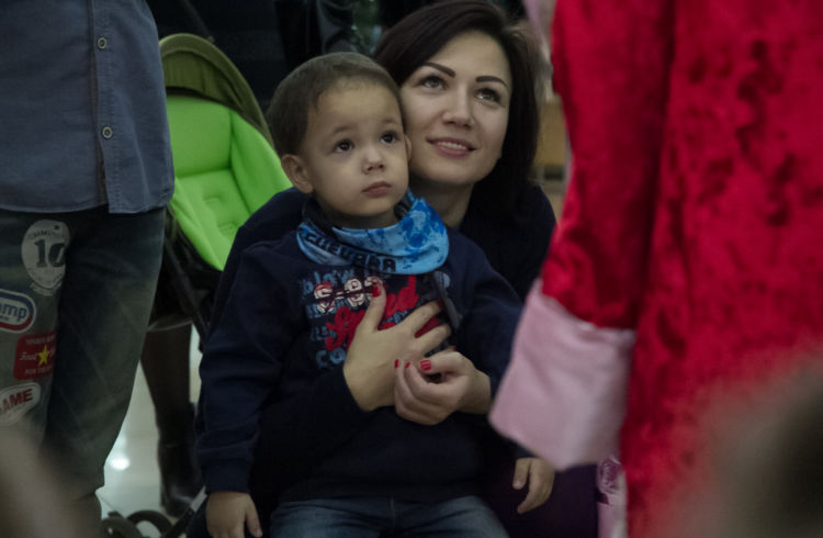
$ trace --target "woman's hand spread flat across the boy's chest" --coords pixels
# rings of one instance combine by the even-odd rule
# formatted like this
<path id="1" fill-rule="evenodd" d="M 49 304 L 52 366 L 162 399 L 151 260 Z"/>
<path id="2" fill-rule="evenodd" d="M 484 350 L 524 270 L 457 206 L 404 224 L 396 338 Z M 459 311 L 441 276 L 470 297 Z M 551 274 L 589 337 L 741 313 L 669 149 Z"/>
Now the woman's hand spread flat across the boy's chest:
<path id="1" fill-rule="evenodd" d="M 343 362 L 343 377 L 361 410 L 394 405 L 395 367 L 419 360 L 451 334 L 440 324 L 417 336 L 441 310 L 437 301 L 417 307 L 394 327 L 380 330 L 386 305 L 385 289 L 374 284 L 369 307 L 354 330 Z"/>

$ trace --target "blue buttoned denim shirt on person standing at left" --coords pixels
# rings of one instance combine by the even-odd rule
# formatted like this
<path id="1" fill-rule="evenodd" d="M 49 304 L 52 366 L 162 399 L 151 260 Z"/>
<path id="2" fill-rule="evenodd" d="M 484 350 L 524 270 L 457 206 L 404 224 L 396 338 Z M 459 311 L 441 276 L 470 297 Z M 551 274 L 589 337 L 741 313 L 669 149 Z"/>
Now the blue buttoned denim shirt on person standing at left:
<path id="1" fill-rule="evenodd" d="M 0 209 L 164 206 L 173 172 L 145 0 L 11 0 L 0 15 Z"/>

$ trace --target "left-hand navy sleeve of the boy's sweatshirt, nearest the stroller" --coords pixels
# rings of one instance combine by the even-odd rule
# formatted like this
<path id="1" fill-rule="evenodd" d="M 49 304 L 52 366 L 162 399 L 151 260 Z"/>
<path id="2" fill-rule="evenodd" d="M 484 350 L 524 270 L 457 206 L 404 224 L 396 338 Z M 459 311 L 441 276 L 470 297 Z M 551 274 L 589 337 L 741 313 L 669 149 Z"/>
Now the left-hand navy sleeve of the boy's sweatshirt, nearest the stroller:
<path id="1" fill-rule="evenodd" d="M 296 329 L 294 316 L 283 315 L 294 312 L 294 294 L 272 278 L 261 251 L 252 247 L 238 262 L 200 365 L 203 430 L 196 450 L 207 491 L 247 491 L 259 412 Z"/>

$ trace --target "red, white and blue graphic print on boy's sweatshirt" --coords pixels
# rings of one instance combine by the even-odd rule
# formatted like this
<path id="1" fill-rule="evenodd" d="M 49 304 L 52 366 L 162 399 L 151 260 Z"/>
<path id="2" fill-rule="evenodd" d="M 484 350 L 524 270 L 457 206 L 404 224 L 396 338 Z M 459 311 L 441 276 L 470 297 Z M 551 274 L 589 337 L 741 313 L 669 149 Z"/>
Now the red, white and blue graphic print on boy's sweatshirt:
<path id="1" fill-rule="evenodd" d="M 448 289 L 449 277 L 441 273 L 441 278 Z M 311 325 L 308 346 L 319 370 L 342 365 L 354 330 L 369 307 L 372 287 L 379 283 L 386 293 L 381 329 L 397 325 L 418 305 L 439 299 L 425 277 L 376 274 L 352 267 L 324 273 L 315 271 L 300 282 L 302 303 Z M 439 323 L 439 317 L 432 317 L 417 334 L 425 334 Z"/>

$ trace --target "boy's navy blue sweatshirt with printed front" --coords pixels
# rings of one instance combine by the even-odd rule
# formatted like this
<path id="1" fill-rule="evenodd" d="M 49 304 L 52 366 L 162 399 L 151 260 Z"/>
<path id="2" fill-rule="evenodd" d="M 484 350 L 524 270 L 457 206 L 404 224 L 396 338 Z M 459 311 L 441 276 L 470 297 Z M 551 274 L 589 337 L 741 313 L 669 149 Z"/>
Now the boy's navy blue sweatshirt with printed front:
<path id="1" fill-rule="evenodd" d="M 452 343 L 496 390 L 520 301 L 476 245 L 453 232 L 449 242 L 446 264 L 426 276 L 322 266 L 303 255 L 294 233 L 244 251 L 201 365 L 205 431 L 198 453 L 208 491 L 247 491 L 263 429 L 278 439 L 264 451 L 267 480 L 292 486 L 283 498 L 362 493 L 431 501 L 474 492 L 493 435 L 485 416 L 455 413 L 421 426 L 393 407 L 365 413 L 341 368 L 371 279 L 384 282 L 384 324 L 393 325 L 440 298 L 439 278 L 462 316 Z"/>

